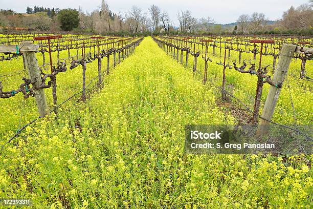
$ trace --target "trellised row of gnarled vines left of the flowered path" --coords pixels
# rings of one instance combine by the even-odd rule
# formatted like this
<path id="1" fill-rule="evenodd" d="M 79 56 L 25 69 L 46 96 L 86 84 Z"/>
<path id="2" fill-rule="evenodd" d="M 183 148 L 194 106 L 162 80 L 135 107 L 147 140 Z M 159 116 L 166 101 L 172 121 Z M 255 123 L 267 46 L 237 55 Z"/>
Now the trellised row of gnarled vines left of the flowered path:
<path id="1" fill-rule="evenodd" d="M 43 46 L 43 45 L 34 45 L 33 41 L 22 41 L 19 45 L 0 45 L 0 53 L 5 53 L 9 54 L 11 57 L 16 57 L 16 56 L 23 56 L 23 61 L 24 61 L 24 68 L 28 70 L 30 78 L 22 78 L 24 81 L 21 83 L 18 88 L 10 90 L 10 91 L 4 91 L 4 86 L 2 84 L 2 81 L 0 81 L 0 98 L 10 98 L 18 93 L 23 93 L 24 98 L 30 98 L 30 97 L 35 97 L 36 100 L 36 105 L 38 108 L 39 112 L 39 117 L 44 117 L 47 114 L 51 112 L 55 112 L 57 114 L 57 108 L 66 101 L 70 100 L 73 98 L 75 95 L 78 95 L 81 93 L 81 100 L 85 101 L 86 100 L 86 88 L 88 88 L 92 81 L 94 81 L 96 78 L 98 78 L 98 86 L 101 87 L 102 83 L 102 76 L 103 74 L 109 74 L 109 64 L 110 64 L 110 55 L 113 55 L 113 62 L 114 65 L 113 67 L 116 66 L 116 53 L 118 53 L 118 63 L 121 62 L 122 59 L 125 59 L 131 52 L 135 50 L 135 48 L 140 44 L 142 41 L 143 37 L 103 37 L 103 36 L 91 36 L 88 39 L 83 38 L 79 39 L 80 44 L 76 43 L 76 49 L 77 51 L 81 49 L 81 58 L 78 57 L 78 52 L 76 56 L 71 56 L 70 51 L 69 51 L 69 60 L 71 59 L 70 62 L 70 69 L 77 68 L 78 66 L 82 66 L 82 90 L 81 92 L 78 92 L 74 95 L 72 95 L 69 99 L 66 99 L 65 101 L 61 102 L 59 105 L 57 105 L 57 95 L 56 95 L 56 75 L 61 72 L 66 72 L 68 68 L 66 67 L 65 60 L 59 59 L 59 51 L 61 50 L 68 50 L 68 49 L 73 49 L 71 44 L 71 40 L 66 39 L 68 41 L 68 44 L 64 44 L 62 47 L 59 47 L 59 44 L 61 41 L 64 39 L 60 39 L 62 36 L 39 36 L 39 37 L 33 37 L 34 41 L 38 40 L 48 40 L 48 45 Z M 51 44 L 50 40 L 51 39 L 59 39 L 57 41 L 57 45 Z M 71 41 L 71 42 L 70 42 Z M 76 39 L 77 41 L 77 39 Z M 53 50 L 53 48 L 57 46 Z M 43 48 L 45 47 L 45 48 Z M 48 49 L 46 49 L 48 47 Z M 85 49 L 89 47 L 90 52 L 85 53 Z M 93 54 L 91 48 L 94 47 Z M 41 48 L 41 50 L 39 50 Z M 97 48 L 97 50 L 96 50 Z M 42 50 L 43 49 L 43 50 Z M 43 60 L 43 65 L 39 66 L 38 61 L 36 58 L 35 53 L 36 52 L 43 53 L 44 52 L 49 52 L 50 55 L 50 62 L 48 63 L 51 67 L 51 73 L 44 73 L 42 70 L 42 67 L 44 67 L 47 64 L 44 64 Z M 57 64 L 56 67 L 54 66 L 52 62 L 52 57 L 51 57 L 51 52 L 57 51 L 58 56 L 57 56 Z M 16 55 L 16 56 L 15 56 Z M 44 59 L 44 55 L 42 56 Z M 74 59 L 74 57 L 77 57 Z M 101 59 L 107 57 L 107 68 L 106 71 L 101 72 Z M 94 60 L 98 60 L 98 75 L 97 77 L 93 78 L 91 82 L 86 86 L 86 65 Z M 2 59 L 2 60 L 10 60 L 10 59 Z M 23 71 L 23 70 L 22 70 Z M 47 81 L 47 78 L 50 78 L 50 80 Z M 55 81 L 53 85 L 53 81 Z M 44 95 L 43 89 L 47 89 L 53 87 L 52 95 L 53 95 L 53 111 L 48 112 L 48 105 L 46 101 L 46 96 Z M 38 118 L 32 120 L 28 124 L 26 124 L 24 127 L 21 129 L 18 129 L 16 134 L 11 137 L 10 141 L 19 135 L 19 133 L 24 130 L 29 124 L 33 123 L 36 121 Z"/>

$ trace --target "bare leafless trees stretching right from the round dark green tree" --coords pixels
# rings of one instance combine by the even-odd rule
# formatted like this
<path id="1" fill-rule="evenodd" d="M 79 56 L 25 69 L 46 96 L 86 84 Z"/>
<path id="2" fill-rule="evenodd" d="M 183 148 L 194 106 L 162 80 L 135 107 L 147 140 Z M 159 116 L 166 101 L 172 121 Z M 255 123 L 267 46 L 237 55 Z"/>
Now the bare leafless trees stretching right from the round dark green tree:
<path id="1" fill-rule="evenodd" d="M 177 11 L 178 27 L 166 10 L 157 5 L 151 5 L 147 12 L 133 5 L 128 11 L 117 14 L 110 11 L 105 0 L 101 6 L 92 12 L 84 12 L 80 7 L 79 28 L 86 32 L 101 33 L 302 33 L 313 34 L 313 0 L 297 8 L 293 6 L 285 11 L 276 22 L 270 21 L 264 13 L 254 12 L 242 14 L 235 22 L 235 26 L 217 24 L 214 18 L 207 16 L 196 18 L 190 10 Z M 273 24 L 274 23 L 274 24 Z"/>

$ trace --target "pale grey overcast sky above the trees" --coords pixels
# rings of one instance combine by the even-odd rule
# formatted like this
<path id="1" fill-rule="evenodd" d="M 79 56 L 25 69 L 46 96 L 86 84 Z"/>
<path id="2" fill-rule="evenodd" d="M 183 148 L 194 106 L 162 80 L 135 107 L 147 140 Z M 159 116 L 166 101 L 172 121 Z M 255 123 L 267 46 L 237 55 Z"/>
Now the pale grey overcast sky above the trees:
<path id="1" fill-rule="evenodd" d="M 128 11 L 132 5 L 137 5 L 148 14 L 149 6 L 157 5 L 169 13 L 171 20 L 177 26 L 176 13 L 178 10 L 188 9 L 197 18 L 210 16 L 216 23 L 226 24 L 236 22 L 240 14 L 252 14 L 253 12 L 263 12 L 270 20 L 276 20 L 290 6 L 298 7 L 308 3 L 308 0 L 107 0 L 106 2 L 109 9 L 115 13 Z M 60 9 L 78 9 L 81 6 L 84 11 L 93 11 L 101 5 L 101 0 L 0 0 L 0 9 L 13 9 L 20 13 L 25 13 L 27 6 L 33 8 L 35 5 Z"/>

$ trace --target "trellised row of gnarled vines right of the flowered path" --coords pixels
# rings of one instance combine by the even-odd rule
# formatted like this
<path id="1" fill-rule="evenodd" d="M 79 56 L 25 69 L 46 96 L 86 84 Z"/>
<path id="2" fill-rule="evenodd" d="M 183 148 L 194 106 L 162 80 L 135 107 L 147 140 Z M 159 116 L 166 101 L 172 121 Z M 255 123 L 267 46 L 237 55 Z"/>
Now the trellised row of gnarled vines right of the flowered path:
<path id="1" fill-rule="evenodd" d="M 200 55 L 200 50 L 196 51 L 196 47 L 195 45 L 198 45 L 199 49 L 199 45 L 202 46 L 202 58 L 204 59 L 205 62 L 205 67 L 204 67 L 204 74 L 202 75 L 203 77 L 203 82 L 206 83 L 208 80 L 208 61 L 212 62 L 212 59 L 208 56 L 208 46 L 212 47 L 212 55 L 214 55 L 215 50 L 214 48 L 217 47 L 216 44 L 214 44 L 214 40 L 213 39 L 208 39 L 208 38 L 198 38 L 198 37 L 172 37 L 172 36 L 153 36 L 152 37 L 154 39 L 155 42 L 157 42 L 157 44 L 159 45 L 160 48 L 164 49 L 169 55 L 172 54 L 173 58 L 176 59 L 178 61 L 178 53 L 181 53 L 181 60 L 180 63 L 183 65 L 183 52 L 186 51 L 186 67 L 188 66 L 188 58 L 189 58 L 189 54 L 191 54 L 194 58 L 193 58 L 193 72 L 198 72 L 197 71 L 197 57 Z M 193 39 L 193 40 L 192 40 Z M 196 40 L 195 40 L 196 39 Z M 208 45 L 208 43 L 213 43 Z M 220 53 L 221 53 L 221 41 L 220 43 Z M 250 67 L 248 70 L 245 70 L 245 68 L 247 67 L 247 62 L 245 60 L 243 60 L 243 65 L 241 65 L 240 67 L 237 67 L 236 65 L 236 61 L 233 61 L 233 66 L 231 66 L 230 64 L 226 65 L 226 52 L 227 50 L 229 51 L 230 54 L 230 50 L 235 50 L 232 46 L 229 46 L 229 44 L 231 45 L 232 43 L 227 43 L 226 41 L 223 42 L 224 44 L 224 59 L 223 59 L 223 63 L 221 62 L 216 62 L 217 65 L 221 65 L 223 66 L 223 75 L 222 75 L 222 86 L 218 87 L 221 89 L 221 93 L 222 93 L 222 99 L 225 100 L 226 99 L 226 93 L 228 93 L 229 95 L 231 95 L 233 98 L 237 99 L 241 105 L 243 105 L 248 111 L 251 111 L 247 105 L 244 105 L 244 103 L 242 101 L 240 101 L 237 97 L 235 97 L 234 95 L 232 95 L 230 92 L 227 92 L 225 89 L 225 82 L 226 82 L 226 75 L 225 75 L 225 70 L 226 68 L 232 69 L 232 67 L 240 72 L 240 73 L 249 73 L 251 75 L 256 75 L 258 77 L 258 81 L 257 81 L 257 92 L 256 92 L 256 96 L 255 96 L 255 105 L 254 105 L 254 110 L 251 111 L 253 113 L 253 123 L 257 123 L 257 118 L 261 118 L 260 122 L 259 122 L 259 126 L 258 126 L 258 130 L 257 130 L 257 134 L 258 135 L 262 135 L 264 133 L 266 133 L 268 130 L 268 124 L 274 123 L 277 124 L 279 126 L 282 126 L 284 128 L 288 128 L 291 130 L 294 130 L 302 135 L 304 135 L 305 137 L 307 137 L 308 139 L 312 140 L 308 135 L 299 132 L 296 129 L 293 129 L 291 127 L 287 127 L 284 126 L 282 124 L 278 124 L 276 122 L 273 122 L 272 116 L 274 114 L 274 109 L 276 107 L 276 103 L 278 101 L 278 97 L 280 94 L 280 90 L 282 88 L 283 85 L 283 81 L 285 79 L 285 76 L 288 75 L 287 71 L 289 68 L 289 64 L 292 60 L 292 58 L 300 58 L 302 60 L 311 60 L 313 58 L 313 49 L 312 48 L 306 48 L 303 46 L 296 46 L 296 45 L 292 45 L 292 44 L 282 44 L 279 47 L 279 53 L 277 54 L 276 57 L 280 57 L 280 59 L 278 60 L 278 65 L 276 67 L 276 69 L 274 70 L 274 76 L 273 78 L 270 75 L 267 75 L 267 73 L 269 72 L 269 70 L 267 70 L 267 68 L 269 67 L 269 65 L 262 67 L 261 66 L 261 61 L 262 61 L 262 55 L 273 55 L 272 53 L 263 53 L 262 49 L 263 49 L 263 44 L 267 45 L 267 44 L 274 44 L 274 40 L 264 40 L 264 39 L 253 39 L 253 40 L 249 40 L 249 43 L 246 43 L 245 46 L 254 46 L 254 50 L 249 50 L 249 51 L 243 51 L 241 50 L 240 47 L 238 47 L 237 49 L 240 49 L 240 53 L 242 52 L 247 52 L 250 53 L 252 52 L 254 54 L 254 59 L 255 59 L 255 54 L 258 52 L 260 53 L 260 58 L 259 58 L 259 66 L 258 66 L 258 70 L 256 70 L 255 68 L 255 63 L 252 63 L 250 60 Z M 236 43 L 238 44 L 238 43 Z M 260 44 L 260 50 L 257 49 L 257 44 Z M 205 50 L 203 50 L 203 47 L 205 47 Z M 266 46 L 265 46 L 266 49 Z M 175 54 L 176 53 L 176 54 Z M 240 55 L 239 55 L 240 56 Z M 275 60 L 276 60 L 275 57 Z M 239 64 L 241 61 L 241 57 L 239 59 Z M 302 61 L 303 62 L 303 61 Z M 275 64 L 274 66 L 275 67 Z M 302 72 L 302 67 L 301 66 L 301 72 Z M 301 73 L 302 75 L 302 73 Z M 303 76 L 300 76 L 300 79 L 304 78 Z M 309 77 L 307 77 L 309 78 Z M 210 82 L 212 82 L 210 80 Z M 212 82 L 213 83 L 213 82 Z M 262 116 L 259 115 L 259 108 L 260 108 L 260 98 L 262 95 L 262 87 L 264 83 L 269 83 L 271 85 L 270 87 L 270 91 L 267 94 L 267 98 L 265 101 L 265 105 L 262 111 Z M 215 85 L 215 83 L 213 83 L 213 86 L 217 87 Z"/>

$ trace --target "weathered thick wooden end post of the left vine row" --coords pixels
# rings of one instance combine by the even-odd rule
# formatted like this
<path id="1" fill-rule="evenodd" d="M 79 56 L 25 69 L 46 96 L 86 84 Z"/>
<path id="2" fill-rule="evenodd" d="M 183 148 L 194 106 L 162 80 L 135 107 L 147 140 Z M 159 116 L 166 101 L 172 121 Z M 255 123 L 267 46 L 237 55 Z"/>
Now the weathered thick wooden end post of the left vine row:
<path id="1" fill-rule="evenodd" d="M 23 41 L 21 42 L 22 46 L 36 46 L 33 45 L 33 41 Z M 23 49 L 23 48 L 22 48 Z M 28 69 L 28 74 L 29 77 L 35 87 L 39 87 L 41 85 L 41 76 L 40 76 L 40 71 L 38 67 L 38 62 L 36 58 L 36 53 L 35 51 L 24 51 L 23 55 L 25 57 L 25 64 Z M 38 112 L 40 117 L 44 117 L 48 114 L 47 109 L 47 100 L 46 100 L 46 95 L 44 95 L 44 90 L 39 89 L 39 90 L 34 90 L 35 93 L 35 100 L 36 100 L 36 105 L 38 108 Z"/>

